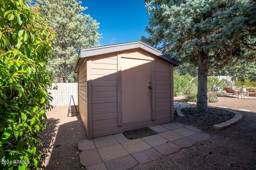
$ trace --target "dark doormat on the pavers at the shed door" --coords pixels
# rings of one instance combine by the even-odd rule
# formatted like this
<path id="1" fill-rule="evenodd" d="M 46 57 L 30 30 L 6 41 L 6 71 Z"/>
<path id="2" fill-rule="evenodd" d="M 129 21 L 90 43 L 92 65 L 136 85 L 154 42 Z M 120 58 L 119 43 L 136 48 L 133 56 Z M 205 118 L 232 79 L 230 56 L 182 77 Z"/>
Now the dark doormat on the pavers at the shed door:
<path id="1" fill-rule="evenodd" d="M 123 132 L 123 134 L 127 139 L 138 139 L 138 138 L 147 137 L 153 134 L 157 134 L 157 132 L 153 131 L 150 128 L 141 128 L 141 129 L 135 129 L 131 131 L 125 131 Z"/>

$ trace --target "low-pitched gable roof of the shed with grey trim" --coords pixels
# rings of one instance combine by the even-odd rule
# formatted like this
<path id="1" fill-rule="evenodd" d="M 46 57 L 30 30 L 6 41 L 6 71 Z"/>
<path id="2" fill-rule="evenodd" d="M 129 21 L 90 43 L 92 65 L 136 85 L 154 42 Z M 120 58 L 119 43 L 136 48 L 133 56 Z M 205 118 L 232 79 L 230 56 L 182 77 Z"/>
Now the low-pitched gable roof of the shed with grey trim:
<path id="1" fill-rule="evenodd" d="M 172 63 L 174 66 L 179 65 L 178 60 L 176 60 L 175 58 L 172 58 L 171 56 L 169 56 L 167 54 L 162 53 L 161 51 L 155 49 L 154 47 L 151 47 L 145 43 L 142 43 L 141 41 L 133 41 L 133 42 L 129 42 L 129 43 L 121 43 L 121 44 L 81 49 L 79 52 L 77 61 L 76 61 L 75 72 L 78 72 L 78 70 L 82 66 L 83 62 L 85 61 L 86 57 L 107 54 L 107 53 L 113 53 L 113 52 L 119 52 L 122 50 L 135 49 L 135 48 L 144 49 L 147 52 L 154 54 L 154 55 L 156 55 L 160 58 L 163 58 L 164 60 Z"/>

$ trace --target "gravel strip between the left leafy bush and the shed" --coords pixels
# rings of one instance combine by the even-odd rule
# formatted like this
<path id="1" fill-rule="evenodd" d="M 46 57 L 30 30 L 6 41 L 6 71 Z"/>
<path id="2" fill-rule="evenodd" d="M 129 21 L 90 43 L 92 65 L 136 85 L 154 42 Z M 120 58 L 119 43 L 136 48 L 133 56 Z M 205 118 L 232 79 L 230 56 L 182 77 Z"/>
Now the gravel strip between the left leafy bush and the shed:
<path id="1" fill-rule="evenodd" d="M 79 116 L 68 117 L 68 107 L 55 107 L 47 117 L 49 125 L 42 137 L 42 169 L 84 169 L 79 162 L 77 143 L 85 139 Z"/>

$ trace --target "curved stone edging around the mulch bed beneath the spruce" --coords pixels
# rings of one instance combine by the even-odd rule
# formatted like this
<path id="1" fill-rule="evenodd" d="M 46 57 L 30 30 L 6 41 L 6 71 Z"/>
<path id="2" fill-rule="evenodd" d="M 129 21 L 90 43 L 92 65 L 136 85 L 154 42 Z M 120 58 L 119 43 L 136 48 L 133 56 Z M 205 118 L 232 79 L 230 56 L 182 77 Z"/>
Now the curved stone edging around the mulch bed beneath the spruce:
<path id="1" fill-rule="evenodd" d="M 237 111 L 233 111 L 229 108 L 219 108 L 219 107 L 211 107 L 209 106 L 210 108 L 216 108 L 216 109 L 223 109 L 223 110 L 226 110 L 226 111 L 229 111 L 229 112 L 233 112 L 235 114 L 235 116 L 233 118 L 231 118 L 230 120 L 226 121 L 226 122 L 222 122 L 222 123 L 219 123 L 219 124 L 214 124 L 213 125 L 213 129 L 215 130 L 222 130 L 222 129 L 226 129 L 228 128 L 230 125 L 238 122 L 239 120 L 241 120 L 241 118 L 243 117 L 243 115 Z M 176 108 L 176 112 L 178 114 L 179 117 L 185 117 L 183 115 L 183 113 L 181 112 L 181 109 L 183 107 L 179 107 L 179 108 Z"/>

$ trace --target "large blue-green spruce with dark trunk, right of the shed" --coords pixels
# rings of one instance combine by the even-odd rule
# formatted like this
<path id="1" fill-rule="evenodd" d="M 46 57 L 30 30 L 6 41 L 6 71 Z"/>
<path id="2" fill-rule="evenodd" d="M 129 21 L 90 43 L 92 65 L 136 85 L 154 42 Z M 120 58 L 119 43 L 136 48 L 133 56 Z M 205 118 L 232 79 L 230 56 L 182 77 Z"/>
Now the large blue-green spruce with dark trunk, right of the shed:
<path id="1" fill-rule="evenodd" d="M 255 57 L 255 2 L 145 0 L 150 14 L 143 41 L 198 67 L 197 109 L 207 111 L 207 75 L 211 67 Z"/>

